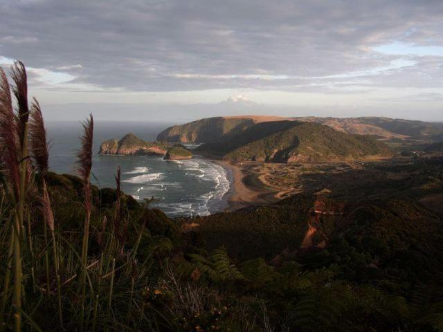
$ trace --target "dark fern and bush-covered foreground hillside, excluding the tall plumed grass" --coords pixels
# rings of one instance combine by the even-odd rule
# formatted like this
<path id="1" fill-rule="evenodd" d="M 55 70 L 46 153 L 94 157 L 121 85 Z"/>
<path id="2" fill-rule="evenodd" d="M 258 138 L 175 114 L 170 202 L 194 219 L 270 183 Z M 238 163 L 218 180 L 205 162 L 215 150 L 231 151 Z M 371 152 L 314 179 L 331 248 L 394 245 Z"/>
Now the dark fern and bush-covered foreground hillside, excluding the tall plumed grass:
<path id="1" fill-rule="evenodd" d="M 83 183 L 47 175 L 55 225 L 66 240 L 58 248 L 68 257 L 68 263 L 61 260 L 64 324 L 76 331 L 70 324 L 78 313 L 75 292 L 68 290 L 78 286 L 78 269 L 69 264 L 75 261 L 69 250 L 82 244 Z M 434 331 L 441 322 L 442 219 L 417 203 L 297 195 L 269 207 L 185 219 L 201 227 L 183 233 L 177 220 L 123 195 L 119 232 L 116 190 L 91 191 L 89 283 L 100 294 L 98 310 L 109 306 L 114 286 L 110 304 L 118 313 L 110 321 L 102 318 L 106 311 L 99 315 L 100 326 L 123 326 L 124 320 L 131 331 L 150 331 L 152 324 L 161 326 L 153 331 Z M 35 212 L 33 248 L 43 263 L 44 220 L 40 209 Z M 116 241 L 122 236 L 123 242 Z M 98 267 L 107 243 L 118 243 L 117 253 L 109 255 L 118 264 L 115 279 Z M 56 331 L 55 292 L 37 297 L 28 275 L 32 319 L 42 331 Z M 45 278 L 39 273 L 36 280 L 45 285 Z M 44 287 L 36 289 L 45 294 Z"/>

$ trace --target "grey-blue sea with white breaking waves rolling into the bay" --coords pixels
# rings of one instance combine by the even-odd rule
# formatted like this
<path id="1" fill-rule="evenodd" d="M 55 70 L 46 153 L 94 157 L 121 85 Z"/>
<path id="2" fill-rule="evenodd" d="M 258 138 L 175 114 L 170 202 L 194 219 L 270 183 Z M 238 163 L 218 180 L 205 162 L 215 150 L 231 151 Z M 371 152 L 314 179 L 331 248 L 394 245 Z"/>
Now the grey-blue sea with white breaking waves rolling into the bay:
<path id="1" fill-rule="evenodd" d="M 100 188 L 116 187 L 117 167 L 122 169 L 123 192 L 134 199 L 154 197 L 152 207 L 171 217 L 213 214 L 227 208 L 231 174 L 210 160 L 194 156 L 190 160 L 163 160 L 160 156 L 101 156 L 100 143 L 134 133 L 143 140 L 155 140 L 170 127 L 169 122 L 94 123 L 93 176 Z M 57 173 L 75 174 L 75 152 L 80 149 L 80 122 L 46 122 L 50 141 L 50 168 Z M 190 146 L 192 148 L 192 146 Z"/>

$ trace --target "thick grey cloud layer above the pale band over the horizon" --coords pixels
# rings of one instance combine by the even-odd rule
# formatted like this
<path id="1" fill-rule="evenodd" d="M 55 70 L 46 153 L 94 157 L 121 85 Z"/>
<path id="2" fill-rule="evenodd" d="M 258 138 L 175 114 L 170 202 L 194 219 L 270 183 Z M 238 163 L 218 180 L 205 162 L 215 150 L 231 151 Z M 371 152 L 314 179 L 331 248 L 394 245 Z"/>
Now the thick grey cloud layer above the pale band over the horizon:
<path id="1" fill-rule="evenodd" d="M 442 86 L 442 57 L 372 50 L 443 45 L 443 1 L 45 1 L 0 3 L 0 56 L 127 91 L 331 84 Z M 75 89 L 78 89 L 75 88 Z"/>

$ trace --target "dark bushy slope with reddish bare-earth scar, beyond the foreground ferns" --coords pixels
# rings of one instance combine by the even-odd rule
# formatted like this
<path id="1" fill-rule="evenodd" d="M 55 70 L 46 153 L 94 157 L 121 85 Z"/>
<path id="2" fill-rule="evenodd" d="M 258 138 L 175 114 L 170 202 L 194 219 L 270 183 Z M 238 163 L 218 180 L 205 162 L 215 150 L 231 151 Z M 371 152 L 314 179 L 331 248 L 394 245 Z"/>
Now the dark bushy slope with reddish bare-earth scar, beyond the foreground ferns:
<path id="1" fill-rule="evenodd" d="M 195 231 L 208 249 L 224 246 L 237 259 L 264 257 L 280 265 L 298 257 L 311 268 L 335 264 L 345 278 L 359 282 L 413 283 L 443 273 L 441 216 L 413 201 L 347 202 L 299 194 L 191 222 L 199 223 Z M 314 229 L 310 246 L 302 248 L 309 229 Z"/>

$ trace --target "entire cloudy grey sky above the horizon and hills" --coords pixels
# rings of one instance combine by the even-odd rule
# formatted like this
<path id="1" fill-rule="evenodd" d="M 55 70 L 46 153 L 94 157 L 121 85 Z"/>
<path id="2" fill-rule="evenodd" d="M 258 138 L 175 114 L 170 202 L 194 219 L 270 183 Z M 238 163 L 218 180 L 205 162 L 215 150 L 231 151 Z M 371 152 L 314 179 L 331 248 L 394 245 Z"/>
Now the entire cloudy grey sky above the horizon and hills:
<path id="1" fill-rule="evenodd" d="M 48 120 L 443 121 L 442 0 L 1 0 Z M 241 98 L 237 98 L 237 96 Z"/>

